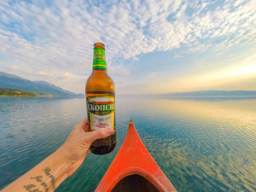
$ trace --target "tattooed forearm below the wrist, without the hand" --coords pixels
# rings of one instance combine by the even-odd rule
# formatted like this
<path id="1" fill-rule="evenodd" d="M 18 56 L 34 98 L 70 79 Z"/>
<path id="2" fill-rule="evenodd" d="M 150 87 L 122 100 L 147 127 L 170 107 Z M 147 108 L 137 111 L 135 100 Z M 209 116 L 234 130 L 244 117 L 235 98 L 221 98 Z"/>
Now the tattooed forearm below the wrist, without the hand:
<path id="1" fill-rule="evenodd" d="M 61 151 L 49 155 L 44 161 L 26 172 L 2 192 L 50 192 L 54 191 L 67 178 L 67 162 Z"/>

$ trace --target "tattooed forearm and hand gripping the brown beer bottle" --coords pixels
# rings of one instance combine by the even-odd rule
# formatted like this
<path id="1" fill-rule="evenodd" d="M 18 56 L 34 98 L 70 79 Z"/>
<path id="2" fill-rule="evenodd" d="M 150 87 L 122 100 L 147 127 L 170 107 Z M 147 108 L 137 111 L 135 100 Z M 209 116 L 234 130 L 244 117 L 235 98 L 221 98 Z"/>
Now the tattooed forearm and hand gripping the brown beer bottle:
<path id="1" fill-rule="evenodd" d="M 73 131 L 61 148 L 1 192 L 54 191 L 83 163 L 86 155 L 90 153 L 91 143 L 112 134 L 112 128 L 89 131 L 88 119 L 85 118 L 73 127 Z"/>

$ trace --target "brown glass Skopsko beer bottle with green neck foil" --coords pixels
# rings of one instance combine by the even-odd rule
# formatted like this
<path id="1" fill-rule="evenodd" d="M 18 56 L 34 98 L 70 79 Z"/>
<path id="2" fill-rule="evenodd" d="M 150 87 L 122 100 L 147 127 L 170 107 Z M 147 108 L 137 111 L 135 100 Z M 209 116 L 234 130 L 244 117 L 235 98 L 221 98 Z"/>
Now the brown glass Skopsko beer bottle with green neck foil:
<path id="1" fill-rule="evenodd" d="M 90 145 L 93 154 L 108 154 L 116 146 L 114 84 L 107 72 L 105 45 L 94 44 L 92 73 L 85 85 L 87 114 L 90 131 L 113 128 L 109 137 Z"/>

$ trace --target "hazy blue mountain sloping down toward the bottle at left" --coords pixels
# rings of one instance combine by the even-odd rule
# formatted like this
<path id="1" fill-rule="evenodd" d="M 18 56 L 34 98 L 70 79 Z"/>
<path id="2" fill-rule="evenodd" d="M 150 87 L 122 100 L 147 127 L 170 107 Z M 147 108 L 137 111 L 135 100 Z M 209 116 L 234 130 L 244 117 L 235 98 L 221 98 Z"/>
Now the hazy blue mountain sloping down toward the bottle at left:
<path id="1" fill-rule="evenodd" d="M 75 94 L 68 90 L 63 90 L 60 87 L 55 86 L 55 84 L 49 84 L 46 81 L 30 81 L 13 74 L 3 72 L 0 72 L 0 87 L 29 91 L 40 96 L 84 96 L 83 94 Z"/>

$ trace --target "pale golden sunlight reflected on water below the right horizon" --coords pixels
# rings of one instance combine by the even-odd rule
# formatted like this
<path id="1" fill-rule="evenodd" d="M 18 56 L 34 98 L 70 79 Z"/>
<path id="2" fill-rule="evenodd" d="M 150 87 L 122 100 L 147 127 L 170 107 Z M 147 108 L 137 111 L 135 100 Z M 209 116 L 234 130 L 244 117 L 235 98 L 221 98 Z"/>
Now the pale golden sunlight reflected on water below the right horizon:
<path id="1" fill-rule="evenodd" d="M 134 110 L 150 113 L 154 117 L 182 115 L 196 119 L 215 119 L 243 123 L 252 131 L 256 129 L 256 100 L 191 101 L 170 99 L 120 99 L 122 112 Z"/>

